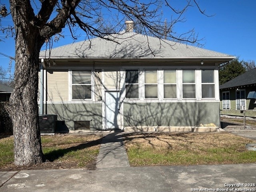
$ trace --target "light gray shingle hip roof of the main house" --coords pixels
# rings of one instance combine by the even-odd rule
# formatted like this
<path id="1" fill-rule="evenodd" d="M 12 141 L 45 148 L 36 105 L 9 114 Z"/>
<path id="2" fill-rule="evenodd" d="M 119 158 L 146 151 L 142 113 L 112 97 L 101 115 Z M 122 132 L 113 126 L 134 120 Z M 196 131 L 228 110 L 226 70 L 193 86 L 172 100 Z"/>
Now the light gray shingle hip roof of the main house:
<path id="1" fill-rule="evenodd" d="M 51 58 L 218 58 L 232 60 L 234 56 L 195 46 L 160 40 L 134 32 L 110 36 L 114 41 L 102 38 L 60 46 L 51 50 Z M 41 51 L 40 58 L 48 58 L 49 52 Z"/>

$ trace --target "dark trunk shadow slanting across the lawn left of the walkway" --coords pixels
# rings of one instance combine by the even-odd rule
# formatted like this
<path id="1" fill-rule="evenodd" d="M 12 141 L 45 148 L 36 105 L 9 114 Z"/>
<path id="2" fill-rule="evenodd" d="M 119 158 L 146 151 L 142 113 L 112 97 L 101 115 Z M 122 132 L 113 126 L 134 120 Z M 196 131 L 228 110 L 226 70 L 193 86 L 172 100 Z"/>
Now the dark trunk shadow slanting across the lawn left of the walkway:
<path id="1" fill-rule="evenodd" d="M 85 148 L 90 148 L 92 146 L 101 144 L 101 142 L 102 142 L 102 138 L 99 138 L 97 140 L 89 141 L 89 142 L 86 142 L 83 144 L 79 144 L 77 146 L 72 146 L 72 147 L 64 148 L 64 149 L 56 149 L 51 152 L 45 153 L 44 157 L 46 159 L 46 162 L 47 162 L 47 160 L 50 162 L 53 162 L 54 160 L 57 160 L 58 158 L 63 157 L 65 154 L 67 154 L 69 152 L 78 151 L 78 150 L 82 150 Z"/>

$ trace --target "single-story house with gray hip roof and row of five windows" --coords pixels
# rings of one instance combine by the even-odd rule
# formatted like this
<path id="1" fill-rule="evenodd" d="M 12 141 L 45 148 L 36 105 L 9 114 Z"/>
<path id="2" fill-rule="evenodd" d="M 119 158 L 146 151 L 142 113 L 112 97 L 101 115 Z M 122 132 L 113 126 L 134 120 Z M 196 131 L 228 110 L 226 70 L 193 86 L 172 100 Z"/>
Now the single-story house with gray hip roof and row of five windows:
<path id="1" fill-rule="evenodd" d="M 40 114 L 57 114 L 58 130 L 220 126 L 218 65 L 234 56 L 129 30 L 109 38 L 53 48 L 50 62 L 40 52 Z"/>

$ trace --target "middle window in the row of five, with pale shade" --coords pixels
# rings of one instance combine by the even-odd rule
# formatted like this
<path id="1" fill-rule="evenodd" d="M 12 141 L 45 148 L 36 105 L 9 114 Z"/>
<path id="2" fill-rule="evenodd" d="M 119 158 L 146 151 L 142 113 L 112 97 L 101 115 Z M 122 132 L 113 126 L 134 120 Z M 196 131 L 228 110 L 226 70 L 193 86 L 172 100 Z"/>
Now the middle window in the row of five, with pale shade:
<path id="1" fill-rule="evenodd" d="M 164 70 L 164 98 L 177 98 L 176 70 Z"/>

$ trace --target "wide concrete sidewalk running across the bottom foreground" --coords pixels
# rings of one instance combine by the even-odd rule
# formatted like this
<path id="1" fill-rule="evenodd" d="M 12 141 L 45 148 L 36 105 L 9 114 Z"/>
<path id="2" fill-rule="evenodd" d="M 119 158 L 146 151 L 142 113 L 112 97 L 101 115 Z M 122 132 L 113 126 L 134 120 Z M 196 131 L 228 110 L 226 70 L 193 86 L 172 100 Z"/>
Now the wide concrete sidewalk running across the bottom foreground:
<path id="1" fill-rule="evenodd" d="M 0 172 L 1 192 L 189 192 L 256 183 L 256 164 Z M 238 186 L 238 184 L 240 186 Z M 244 186 L 241 186 L 244 184 Z M 210 191 L 208 190 L 208 191 Z M 245 191 L 245 190 L 242 190 Z"/>

